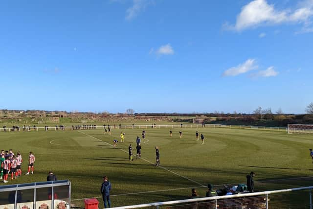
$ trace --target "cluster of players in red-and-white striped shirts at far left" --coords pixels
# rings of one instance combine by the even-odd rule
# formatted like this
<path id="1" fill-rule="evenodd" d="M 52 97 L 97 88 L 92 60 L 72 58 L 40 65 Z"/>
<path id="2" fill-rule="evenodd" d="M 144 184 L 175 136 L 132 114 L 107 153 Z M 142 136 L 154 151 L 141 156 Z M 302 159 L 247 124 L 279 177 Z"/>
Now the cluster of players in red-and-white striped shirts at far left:
<path id="1" fill-rule="evenodd" d="M 1 150 L 0 154 L 0 163 L 1 163 L 1 174 L 0 180 L 3 179 L 3 183 L 8 183 L 8 176 L 11 173 L 11 179 L 17 179 L 19 176 L 22 175 L 22 155 L 21 152 L 18 152 L 15 156 L 13 150 L 10 149 L 9 151 Z M 31 174 L 34 174 L 34 163 L 35 163 L 35 156 L 32 152 L 29 152 L 28 157 L 28 171 L 25 175 L 29 174 L 31 169 Z"/>

